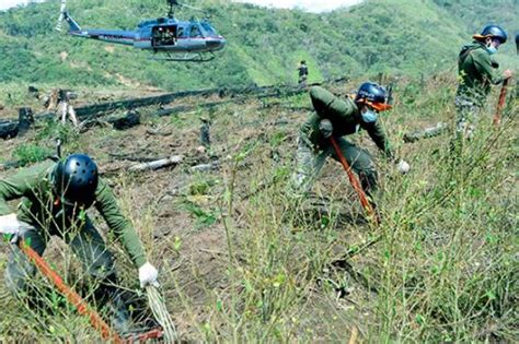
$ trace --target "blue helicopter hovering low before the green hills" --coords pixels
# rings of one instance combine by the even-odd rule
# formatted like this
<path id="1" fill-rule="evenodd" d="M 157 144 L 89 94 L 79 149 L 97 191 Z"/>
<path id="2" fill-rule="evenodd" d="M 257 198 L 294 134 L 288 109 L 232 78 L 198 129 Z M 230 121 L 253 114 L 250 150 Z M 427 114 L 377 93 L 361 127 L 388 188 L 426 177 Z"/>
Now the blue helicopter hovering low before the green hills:
<path id="1" fill-rule="evenodd" d="M 60 15 L 56 29 L 61 29 L 61 22 L 69 24 L 69 35 L 102 41 L 132 46 L 137 49 L 150 50 L 164 55 L 152 59 L 162 61 L 205 62 L 215 58 L 214 51 L 223 49 L 226 38 L 219 35 L 211 24 L 204 20 L 178 21 L 173 15 L 173 8 L 186 7 L 177 0 L 168 0 L 170 11 L 166 17 L 141 22 L 135 31 L 90 29 L 81 26 L 66 10 L 66 0 L 61 0 Z"/>

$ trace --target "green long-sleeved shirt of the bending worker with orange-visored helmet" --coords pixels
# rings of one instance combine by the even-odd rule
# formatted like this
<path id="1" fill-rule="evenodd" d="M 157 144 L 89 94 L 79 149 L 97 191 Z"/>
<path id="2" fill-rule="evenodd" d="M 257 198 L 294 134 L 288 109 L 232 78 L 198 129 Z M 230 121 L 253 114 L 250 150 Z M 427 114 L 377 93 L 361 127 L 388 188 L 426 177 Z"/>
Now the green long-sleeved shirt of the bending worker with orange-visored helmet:
<path id="1" fill-rule="evenodd" d="M 339 98 L 320 86 L 310 90 L 315 112 L 302 124 L 301 137 L 315 149 L 324 149 L 330 145 L 330 140 L 324 138 L 319 130 L 319 122 L 328 119 L 333 126 L 333 137 L 344 137 L 365 129 L 377 146 L 382 150 L 388 158 L 393 154 L 379 120 L 366 123 L 361 120 L 359 109 L 351 98 Z"/>

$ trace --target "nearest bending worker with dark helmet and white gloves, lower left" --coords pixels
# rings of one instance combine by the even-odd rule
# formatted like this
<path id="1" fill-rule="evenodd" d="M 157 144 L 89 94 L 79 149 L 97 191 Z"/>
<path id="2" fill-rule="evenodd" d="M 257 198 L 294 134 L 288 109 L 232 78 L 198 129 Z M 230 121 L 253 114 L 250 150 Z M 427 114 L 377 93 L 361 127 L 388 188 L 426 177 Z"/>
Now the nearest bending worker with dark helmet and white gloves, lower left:
<path id="1" fill-rule="evenodd" d="M 15 199 L 22 202 L 18 212 L 12 213 L 7 201 Z M 0 233 L 23 238 L 41 256 L 50 236 L 62 238 L 96 282 L 97 304 L 108 306 L 112 325 L 124 334 L 129 330 L 129 312 L 116 287 L 114 258 L 84 213 L 91 206 L 123 242 L 138 268 L 141 287 L 157 285 L 157 269 L 147 261 L 136 230 L 122 214 L 111 188 L 99 178 L 97 166 L 89 156 L 72 154 L 61 162 L 47 161 L 0 180 Z M 12 249 L 5 270 L 7 285 L 36 307 L 38 300 L 30 287 L 35 266 L 18 246 Z"/>

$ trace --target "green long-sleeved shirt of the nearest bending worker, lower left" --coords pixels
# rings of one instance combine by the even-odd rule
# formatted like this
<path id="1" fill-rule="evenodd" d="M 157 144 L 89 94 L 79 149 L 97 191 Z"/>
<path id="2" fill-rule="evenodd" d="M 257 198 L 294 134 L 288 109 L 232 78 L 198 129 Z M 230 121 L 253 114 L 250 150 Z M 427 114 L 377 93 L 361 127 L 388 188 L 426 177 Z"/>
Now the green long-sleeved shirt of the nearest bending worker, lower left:
<path id="1" fill-rule="evenodd" d="M 22 198 L 18 217 L 36 228 L 59 230 L 77 223 L 78 216 L 59 215 L 62 206 L 56 203 L 50 182 L 55 167 L 56 163 L 48 161 L 0 180 L 0 215 L 12 213 L 7 201 Z M 102 179 L 95 191 L 94 206 L 111 230 L 120 238 L 136 266 L 142 266 L 146 263 L 142 244 L 130 222 L 122 214 L 112 189 Z"/>

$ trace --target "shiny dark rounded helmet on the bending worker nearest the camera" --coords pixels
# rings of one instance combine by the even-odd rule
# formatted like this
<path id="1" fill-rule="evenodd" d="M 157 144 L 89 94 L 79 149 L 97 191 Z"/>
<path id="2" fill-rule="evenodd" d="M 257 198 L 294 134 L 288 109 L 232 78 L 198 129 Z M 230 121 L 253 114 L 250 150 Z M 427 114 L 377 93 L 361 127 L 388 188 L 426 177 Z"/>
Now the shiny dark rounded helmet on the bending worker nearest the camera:
<path id="1" fill-rule="evenodd" d="M 68 205 L 92 205 L 97 182 L 97 166 L 88 155 L 72 154 L 56 166 L 55 191 Z"/>

